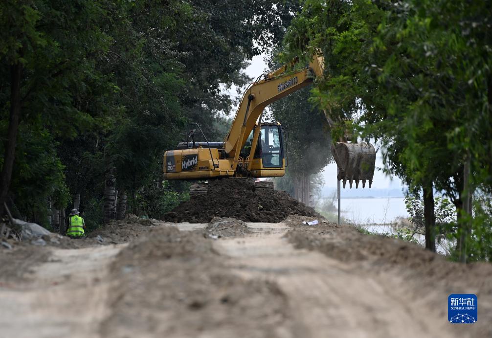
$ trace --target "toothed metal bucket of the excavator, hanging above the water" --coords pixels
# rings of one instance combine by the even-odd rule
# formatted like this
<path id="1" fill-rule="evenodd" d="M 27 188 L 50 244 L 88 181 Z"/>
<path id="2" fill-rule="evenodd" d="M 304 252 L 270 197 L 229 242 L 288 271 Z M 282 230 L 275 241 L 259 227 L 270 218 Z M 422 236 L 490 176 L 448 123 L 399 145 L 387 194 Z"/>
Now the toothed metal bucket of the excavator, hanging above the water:
<path id="1" fill-rule="evenodd" d="M 366 181 L 369 181 L 370 188 L 376 164 L 374 146 L 367 143 L 338 142 L 332 146 L 332 153 L 338 166 L 337 179 L 343 182 L 343 187 L 348 181 L 352 188 L 355 181 L 355 187 L 358 188 L 359 182 L 362 181 L 364 188 Z"/>

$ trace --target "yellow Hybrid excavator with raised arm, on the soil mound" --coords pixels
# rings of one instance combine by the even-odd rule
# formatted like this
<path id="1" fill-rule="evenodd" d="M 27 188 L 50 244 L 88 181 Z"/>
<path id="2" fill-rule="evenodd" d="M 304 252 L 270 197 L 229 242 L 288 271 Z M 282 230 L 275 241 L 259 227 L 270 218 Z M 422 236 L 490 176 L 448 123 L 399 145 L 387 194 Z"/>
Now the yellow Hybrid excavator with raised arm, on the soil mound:
<path id="1" fill-rule="evenodd" d="M 164 154 L 165 180 L 201 180 L 213 182 L 216 178 L 279 177 L 287 166 L 287 142 L 285 130 L 278 122 L 261 122 L 263 110 L 270 103 L 300 90 L 323 76 L 324 60 L 314 55 L 306 68 L 292 70 L 294 59 L 268 74 L 261 75 L 246 89 L 231 128 L 222 142 L 209 142 L 197 123 L 186 126 L 186 142 L 176 150 Z M 326 112 L 332 127 L 334 121 Z M 201 134 L 205 141 L 195 142 Z M 350 143 L 345 136 L 332 145 L 332 153 L 338 166 L 337 179 L 343 187 L 349 181 L 363 187 L 372 184 L 376 152 L 372 145 Z M 260 182 L 258 187 L 268 183 Z M 273 184 L 271 184 L 273 188 Z M 206 193 L 206 184 L 194 184 L 192 195 Z"/>

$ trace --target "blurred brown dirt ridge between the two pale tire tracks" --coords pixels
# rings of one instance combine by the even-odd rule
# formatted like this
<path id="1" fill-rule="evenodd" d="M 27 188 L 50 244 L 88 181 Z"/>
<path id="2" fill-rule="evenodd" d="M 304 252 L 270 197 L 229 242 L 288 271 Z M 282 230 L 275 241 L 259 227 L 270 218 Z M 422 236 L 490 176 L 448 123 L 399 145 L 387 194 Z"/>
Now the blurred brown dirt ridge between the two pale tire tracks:
<path id="1" fill-rule="evenodd" d="M 197 232 L 154 227 L 111 266 L 110 315 L 101 337 L 286 337 L 288 303 L 277 284 L 234 274 Z M 266 320 L 265 318 L 268 318 Z M 283 332 L 282 332 L 283 333 Z M 289 337 L 289 335 L 287 335 Z"/>

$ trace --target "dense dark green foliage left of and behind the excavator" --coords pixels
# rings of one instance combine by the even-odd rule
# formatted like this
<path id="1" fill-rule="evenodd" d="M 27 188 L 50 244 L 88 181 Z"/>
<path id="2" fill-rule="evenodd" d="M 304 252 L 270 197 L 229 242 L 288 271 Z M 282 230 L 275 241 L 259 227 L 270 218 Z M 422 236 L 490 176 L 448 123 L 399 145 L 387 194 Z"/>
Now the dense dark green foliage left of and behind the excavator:
<path id="1" fill-rule="evenodd" d="M 81 193 L 89 226 L 99 226 L 111 168 L 129 201 L 138 196 L 134 211 L 162 215 L 184 200 L 174 185 L 139 192 L 159 181 L 162 153 L 185 123 L 225 135 L 227 122 L 217 117 L 232 101 L 220 89 L 249 81 L 245 58 L 277 44 L 298 8 L 284 0 L 2 1 L 1 135 L 9 67 L 23 66 L 11 184 L 20 214 L 46 224 L 48 201 L 63 209 Z"/>

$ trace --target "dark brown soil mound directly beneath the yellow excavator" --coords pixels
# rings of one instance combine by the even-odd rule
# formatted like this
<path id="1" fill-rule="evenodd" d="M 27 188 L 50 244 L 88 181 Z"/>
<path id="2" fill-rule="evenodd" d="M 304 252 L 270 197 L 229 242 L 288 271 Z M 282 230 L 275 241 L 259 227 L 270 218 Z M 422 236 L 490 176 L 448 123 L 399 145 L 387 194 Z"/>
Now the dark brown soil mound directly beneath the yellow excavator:
<path id="1" fill-rule="evenodd" d="M 179 205 L 164 216 L 172 222 L 202 223 L 214 217 L 233 217 L 248 222 L 275 223 L 289 214 L 318 216 L 283 191 L 255 189 L 252 179 L 209 181 L 209 193 Z"/>

